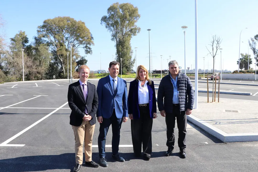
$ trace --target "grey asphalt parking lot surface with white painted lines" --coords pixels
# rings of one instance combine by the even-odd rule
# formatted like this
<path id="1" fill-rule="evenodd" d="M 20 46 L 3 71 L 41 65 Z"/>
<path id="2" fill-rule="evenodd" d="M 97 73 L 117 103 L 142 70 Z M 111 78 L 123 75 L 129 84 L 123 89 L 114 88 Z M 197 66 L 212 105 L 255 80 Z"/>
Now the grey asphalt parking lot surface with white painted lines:
<path id="1" fill-rule="evenodd" d="M 89 82 L 98 84 L 97 80 Z M 0 85 L 0 171 L 72 171 L 75 153 L 74 135 L 69 125 L 71 110 L 67 104 L 69 84 L 67 81 L 44 81 L 38 84 Z M 199 96 L 202 94 L 207 96 L 207 93 L 199 93 Z M 257 98 L 220 96 L 229 96 L 231 99 L 246 97 L 246 100 Z M 174 153 L 165 157 L 165 118 L 159 112 L 157 114 L 158 118 L 154 119 L 152 127 L 153 152 L 150 161 L 134 157 L 128 119 L 122 124 L 122 147 L 119 148 L 119 154 L 126 161 L 115 162 L 111 158 L 111 148 L 107 147 L 108 167 L 91 168 L 83 164 L 80 171 L 256 171 L 258 142 L 222 143 L 190 122 L 187 125 L 187 158 L 179 157 L 177 126 Z M 93 160 L 96 162 L 98 134 L 97 123 L 92 148 Z M 106 145 L 111 145 L 111 135 L 110 128 Z M 13 146 L 1 146 L 3 143 Z"/>

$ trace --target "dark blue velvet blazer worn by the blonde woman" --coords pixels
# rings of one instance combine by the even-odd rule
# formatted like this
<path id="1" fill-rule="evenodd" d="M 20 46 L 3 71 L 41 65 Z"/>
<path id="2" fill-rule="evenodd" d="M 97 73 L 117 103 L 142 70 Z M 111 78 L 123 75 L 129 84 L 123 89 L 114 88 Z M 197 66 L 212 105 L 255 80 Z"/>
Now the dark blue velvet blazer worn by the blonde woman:
<path id="1" fill-rule="evenodd" d="M 133 119 L 140 118 L 139 111 L 139 99 L 138 99 L 138 80 L 133 80 L 130 82 L 129 93 L 128 93 L 128 113 L 133 114 Z M 150 118 L 153 118 L 153 113 L 157 112 L 156 105 L 156 93 L 154 88 L 154 82 L 151 81 L 151 85 L 147 83 L 149 90 L 149 110 Z"/>

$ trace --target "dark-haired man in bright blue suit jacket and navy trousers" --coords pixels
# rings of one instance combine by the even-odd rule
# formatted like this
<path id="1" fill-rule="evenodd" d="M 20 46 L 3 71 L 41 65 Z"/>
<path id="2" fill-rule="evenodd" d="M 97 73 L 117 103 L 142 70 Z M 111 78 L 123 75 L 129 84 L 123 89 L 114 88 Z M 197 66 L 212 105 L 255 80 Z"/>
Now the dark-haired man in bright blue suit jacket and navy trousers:
<path id="1" fill-rule="evenodd" d="M 96 116 L 100 123 L 98 147 L 102 167 L 108 166 L 105 159 L 105 144 L 110 125 L 112 125 L 112 157 L 119 162 L 125 161 L 118 154 L 118 146 L 122 122 L 128 119 L 127 85 L 125 80 L 117 77 L 119 65 L 119 62 L 110 62 L 108 68 L 110 75 L 101 78 L 97 86 L 99 106 Z"/>

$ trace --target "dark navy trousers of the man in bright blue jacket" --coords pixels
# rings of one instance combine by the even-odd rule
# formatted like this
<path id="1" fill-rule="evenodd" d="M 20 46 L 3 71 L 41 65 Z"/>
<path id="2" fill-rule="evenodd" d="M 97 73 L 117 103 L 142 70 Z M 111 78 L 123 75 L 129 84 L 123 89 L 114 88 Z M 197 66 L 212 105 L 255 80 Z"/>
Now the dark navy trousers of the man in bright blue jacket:
<path id="1" fill-rule="evenodd" d="M 122 122 L 122 118 L 118 119 L 116 117 L 115 109 L 110 118 L 103 118 L 102 123 L 100 123 L 98 137 L 99 158 L 105 157 L 106 136 L 110 125 L 112 125 L 112 154 L 116 155 L 118 153 Z"/>

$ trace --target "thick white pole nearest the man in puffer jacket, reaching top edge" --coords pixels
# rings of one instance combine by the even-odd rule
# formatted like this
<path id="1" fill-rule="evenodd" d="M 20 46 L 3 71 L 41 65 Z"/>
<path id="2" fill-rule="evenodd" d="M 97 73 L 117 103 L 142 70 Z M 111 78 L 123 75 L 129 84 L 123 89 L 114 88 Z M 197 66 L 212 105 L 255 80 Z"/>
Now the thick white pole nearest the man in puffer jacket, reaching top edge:
<path id="1" fill-rule="evenodd" d="M 194 108 L 198 107 L 198 27 L 197 27 L 197 0 L 195 0 L 195 99 Z"/>

